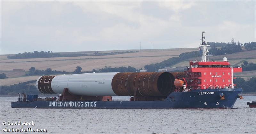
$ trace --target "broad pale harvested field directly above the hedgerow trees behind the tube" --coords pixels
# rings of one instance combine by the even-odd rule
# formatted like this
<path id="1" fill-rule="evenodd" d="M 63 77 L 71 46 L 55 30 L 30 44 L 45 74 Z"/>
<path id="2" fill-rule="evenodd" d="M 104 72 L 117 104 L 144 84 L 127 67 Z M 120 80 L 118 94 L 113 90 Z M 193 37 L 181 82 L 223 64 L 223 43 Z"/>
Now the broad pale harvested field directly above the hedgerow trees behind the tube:
<path id="1" fill-rule="evenodd" d="M 134 58 L 111 58 L 111 59 L 82 59 L 82 60 L 67 60 L 67 61 L 41 61 L 41 62 L 14 62 L 1 63 L 1 69 L 12 70 L 19 67 L 20 69 L 28 70 L 30 67 L 36 69 L 51 68 L 52 70 L 65 70 L 72 72 L 77 66 L 82 67 L 82 71 L 91 71 L 94 68 L 111 67 L 128 67 L 132 66 L 137 69 L 143 68 L 147 64 L 157 63 L 170 56 L 165 57 L 134 57 Z"/>

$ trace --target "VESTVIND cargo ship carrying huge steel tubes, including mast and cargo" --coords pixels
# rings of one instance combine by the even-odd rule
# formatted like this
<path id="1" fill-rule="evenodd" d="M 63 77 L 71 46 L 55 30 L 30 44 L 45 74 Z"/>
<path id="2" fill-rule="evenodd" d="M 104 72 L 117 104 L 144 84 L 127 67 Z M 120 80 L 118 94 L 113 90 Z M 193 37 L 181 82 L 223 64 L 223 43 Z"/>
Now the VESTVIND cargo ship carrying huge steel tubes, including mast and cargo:
<path id="1" fill-rule="evenodd" d="M 204 34 L 204 31 L 203 31 Z M 19 97 L 12 108 L 233 108 L 243 99 L 241 88 L 235 88 L 232 67 L 222 61 L 206 61 L 207 47 L 202 34 L 201 61 L 189 61 L 184 72 L 123 72 L 45 75 L 36 81 L 36 89 L 58 98 Z M 126 96 L 128 99 L 113 99 Z"/>

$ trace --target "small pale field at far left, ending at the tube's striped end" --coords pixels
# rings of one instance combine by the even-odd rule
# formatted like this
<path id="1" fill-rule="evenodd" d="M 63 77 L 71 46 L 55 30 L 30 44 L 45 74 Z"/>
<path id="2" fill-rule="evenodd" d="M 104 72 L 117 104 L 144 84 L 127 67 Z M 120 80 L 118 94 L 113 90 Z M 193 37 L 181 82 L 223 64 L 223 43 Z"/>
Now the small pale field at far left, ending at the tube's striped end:
<path id="1" fill-rule="evenodd" d="M 27 82 L 31 80 L 37 80 L 39 76 L 27 76 L 27 77 L 18 77 L 18 78 L 6 78 L 0 79 L 0 85 L 14 85 L 22 82 Z M 36 84 L 36 83 L 35 83 Z"/>

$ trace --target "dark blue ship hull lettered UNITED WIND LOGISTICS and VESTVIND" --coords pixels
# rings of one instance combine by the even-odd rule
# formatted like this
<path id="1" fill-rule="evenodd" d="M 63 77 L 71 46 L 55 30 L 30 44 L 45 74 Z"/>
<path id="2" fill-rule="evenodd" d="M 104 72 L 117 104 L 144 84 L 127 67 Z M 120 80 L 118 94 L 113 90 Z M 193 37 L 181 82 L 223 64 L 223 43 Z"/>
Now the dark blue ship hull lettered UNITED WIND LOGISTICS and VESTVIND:
<path id="1" fill-rule="evenodd" d="M 112 108 L 112 109 L 168 109 L 168 108 L 232 108 L 242 89 L 206 89 L 172 92 L 163 101 L 33 101 L 12 102 L 12 108 Z M 220 94 L 225 99 L 220 99 Z"/>

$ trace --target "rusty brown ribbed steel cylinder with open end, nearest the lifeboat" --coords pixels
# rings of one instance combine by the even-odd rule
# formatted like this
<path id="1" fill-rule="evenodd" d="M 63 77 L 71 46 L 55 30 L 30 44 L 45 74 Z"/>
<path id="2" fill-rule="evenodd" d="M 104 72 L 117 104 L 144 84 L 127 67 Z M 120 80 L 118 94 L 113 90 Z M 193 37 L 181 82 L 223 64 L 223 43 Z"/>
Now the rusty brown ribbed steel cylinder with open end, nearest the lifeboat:
<path id="1" fill-rule="evenodd" d="M 169 72 L 117 73 L 112 79 L 112 89 L 118 96 L 168 96 L 174 82 Z"/>

